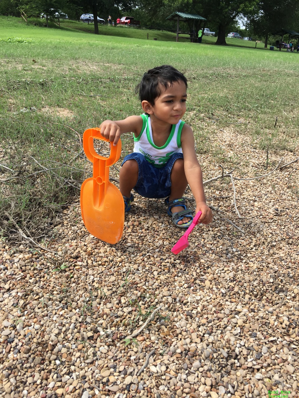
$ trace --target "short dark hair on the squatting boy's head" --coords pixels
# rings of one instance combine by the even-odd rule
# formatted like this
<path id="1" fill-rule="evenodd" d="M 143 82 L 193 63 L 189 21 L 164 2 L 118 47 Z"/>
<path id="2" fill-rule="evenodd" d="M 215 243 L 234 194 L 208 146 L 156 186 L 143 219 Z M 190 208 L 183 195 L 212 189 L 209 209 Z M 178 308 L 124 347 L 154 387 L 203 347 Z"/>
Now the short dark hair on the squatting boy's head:
<path id="1" fill-rule="evenodd" d="M 161 95 L 162 87 L 167 90 L 174 82 L 179 81 L 184 82 L 186 88 L 188 87 L 187 79 L 183 73 L 173 68 L 173 66 L 156 66 L 143 75 L 135 91 L 141 102 L 148 101 L 151 105 L 154 105 L 155 98 Z"/>

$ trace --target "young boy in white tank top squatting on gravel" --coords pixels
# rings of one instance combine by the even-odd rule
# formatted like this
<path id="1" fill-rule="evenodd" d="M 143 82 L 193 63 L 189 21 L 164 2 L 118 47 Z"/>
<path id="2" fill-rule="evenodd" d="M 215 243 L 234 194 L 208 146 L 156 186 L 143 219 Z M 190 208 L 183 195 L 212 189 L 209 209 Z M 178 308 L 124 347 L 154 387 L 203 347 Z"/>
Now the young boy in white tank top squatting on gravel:
<path id="1" fill-rule="evenodd" d="M 162 65 L 144 74 L 136 88 L 144 114 L 124 120 L 106 120 L 101 134 L 116 145 L 123 133 L 134 133 L 134 152 L 125 156 L 120 170 L 120 192 L 125 212 L 131 209 L 131 191 L 148 198 L 165 198 L 167 214 L 179 228 L 193 220 L 183 194 L 189 184 L 200 222 L 209 224 L 212 211 L 206 204 L 201 166 L 196 157 L 193 132 L 181 121 L 186 112 L 187 79 Z"/>

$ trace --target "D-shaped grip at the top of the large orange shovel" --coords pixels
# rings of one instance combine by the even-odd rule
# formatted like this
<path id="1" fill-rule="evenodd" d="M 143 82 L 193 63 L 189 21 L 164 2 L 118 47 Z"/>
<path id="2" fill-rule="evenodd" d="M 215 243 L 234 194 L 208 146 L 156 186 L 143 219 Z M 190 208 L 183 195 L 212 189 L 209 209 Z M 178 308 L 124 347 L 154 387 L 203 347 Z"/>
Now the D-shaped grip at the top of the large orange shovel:
<path id="1" fill-rule="evenodd" d="M 122 142 L 120 140 L 118 140 L 115 146 L 111 145 L 110 156 L 106 158 L 105 156 L 97 154 L 94 150 L 94 139 L 110 142 L 107 138 L 101 135 L 101 129 L 99 127 L 85 130 L 83 133 L 83 149 L 90 162 L 94 163 L 95 159 L 99 159 L 105 162 L 105 166 L 109 167 L 118 161 L 120 158 L 120 152 L 122 151 Z"/>

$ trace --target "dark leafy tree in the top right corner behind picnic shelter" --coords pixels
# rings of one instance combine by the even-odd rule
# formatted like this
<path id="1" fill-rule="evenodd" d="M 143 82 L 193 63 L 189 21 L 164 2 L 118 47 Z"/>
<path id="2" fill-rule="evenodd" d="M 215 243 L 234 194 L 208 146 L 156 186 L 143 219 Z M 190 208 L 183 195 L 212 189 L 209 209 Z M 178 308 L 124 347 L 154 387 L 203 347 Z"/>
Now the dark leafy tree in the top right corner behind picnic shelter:
<path id="1" fill-rule="evenodd" d="M 292 29 L 297 19 L 297 4 L 293 0 L 261 0 L 254 14 L 248 15 L 248 26 L 255 34 L 265 37 L 281 28 Z"/>

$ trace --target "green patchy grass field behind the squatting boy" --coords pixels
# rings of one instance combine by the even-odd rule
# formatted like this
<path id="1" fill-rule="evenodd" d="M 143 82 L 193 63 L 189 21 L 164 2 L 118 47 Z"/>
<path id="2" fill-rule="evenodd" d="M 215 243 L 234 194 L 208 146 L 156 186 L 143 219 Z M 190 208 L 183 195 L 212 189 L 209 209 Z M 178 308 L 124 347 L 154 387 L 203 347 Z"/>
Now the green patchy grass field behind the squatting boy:
<path id="1" fill-rule="evenodd" d="M 250 135 L 257 148 L 294 150 L 298 142 L 299 53 L 236 39 L 218 47 L 214 37 L 204 37 L 201 45 L 176 43 L 173 33 L 124 27 L 100 25 L 100 35 L 94 35 L 93 26 L 76 21 L 51 26 L 0 17 L 6 236 L 17 234 L 16 224 L 37 240 L 49 235 L 57 214 L 79 201 L 80 184 L 90 176 L 79 137 L 105 119 L 140 114 L 134 88 L 159 64 L 172 64 L 187 76 L 184 119 L 193 127 L 198 153 L 225 160 L 210 137 L 240 120 L 250 124 L 240 124 L 239 133 Z M 126 153 L 132 139 L 122 141 Z"/>

